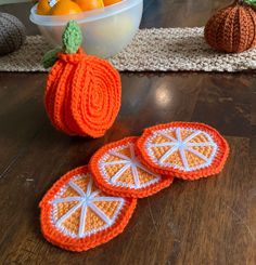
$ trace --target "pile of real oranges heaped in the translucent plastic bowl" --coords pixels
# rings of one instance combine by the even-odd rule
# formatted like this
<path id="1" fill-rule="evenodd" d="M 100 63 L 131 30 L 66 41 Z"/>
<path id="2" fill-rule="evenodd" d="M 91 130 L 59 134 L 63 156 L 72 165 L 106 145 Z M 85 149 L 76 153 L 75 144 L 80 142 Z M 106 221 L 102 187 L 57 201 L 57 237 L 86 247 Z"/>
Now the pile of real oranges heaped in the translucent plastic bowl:
<path id="1" fill-rule="evenodd" d="M 72 15 L 84 11 L 102 9 L 121 0 L 39 0 L 38 15 Z"/>

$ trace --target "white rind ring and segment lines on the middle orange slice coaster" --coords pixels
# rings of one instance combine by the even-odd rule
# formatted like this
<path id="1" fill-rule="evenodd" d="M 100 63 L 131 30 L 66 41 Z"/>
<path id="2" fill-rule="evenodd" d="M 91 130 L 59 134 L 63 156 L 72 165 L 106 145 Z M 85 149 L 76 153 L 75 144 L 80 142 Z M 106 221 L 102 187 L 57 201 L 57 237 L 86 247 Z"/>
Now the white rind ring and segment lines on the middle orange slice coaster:
<path id="1" fill-rule="evenodd" d="M 126 148 L 129 148 L 131 157 L 128 157 L 128 156 L 120 153 L 121 150 L 124 150 Z M 107 162 L 107 159 L 110 157 L 118 158 L 118 160 Z M 107 165 L 115 165 L 115 164 L 124 164 L 124 167 L 121 167 L 112 177 L 110 177 L 107 174 L 107 171 L 106 171 L 106 167 Z M 125 144 L 125 145 L 121 145 L 121 146 L 118 146 L 118 147 L 115 147 L 115 148 L 112 148 L 111 150 L 108 150 L 99 160 L 99 169 L 100 169 L 101 174 L 104 177 L 106 183 L 108 183 L 111 185 L 119 186 L 119 187 L 139 189 L 139 188 L 144 188 L 144 187 L 148 187 L 152 184 L 158 183 L 162 180 L 161 175 L 151 172 L 143 164 L 141 164 L 141 162 L 136 158 L 133 143 L 128 143 L 128 144 Z M 149 181 L 149 182 L 141 183 L 138 169 L 140 169 L 140 170 L 146 172 L 148 174 L 154 176 L 154 178 Z M 128 170 L 130 170 L 130 173 L 132 174 L 133 184 L 132 183 L 128 184 L 128 183 L 124 183 L 124 182 L 118 181 L 123 176 L 123 174 L 125 174 Z"/>

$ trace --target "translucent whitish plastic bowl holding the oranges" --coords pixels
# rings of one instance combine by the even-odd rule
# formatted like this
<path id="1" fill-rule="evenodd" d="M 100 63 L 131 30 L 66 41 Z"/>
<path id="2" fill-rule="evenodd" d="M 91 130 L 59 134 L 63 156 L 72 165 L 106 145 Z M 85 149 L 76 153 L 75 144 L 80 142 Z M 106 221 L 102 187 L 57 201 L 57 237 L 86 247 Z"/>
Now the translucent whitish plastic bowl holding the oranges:
<path id="1" fill-rule="evenodd" d="M 88 54 L 110 57 L 120 52 L 136 35 L 142 16 L 143 0 L 123 0 L 103 9 L 76 15 L 38 15 L 37 5 L 30 11 L 30 21 L 53 45 L 61 45 L 62 34 L 68 21 L 75 19 L 84 35 L 82 47 Z"/>

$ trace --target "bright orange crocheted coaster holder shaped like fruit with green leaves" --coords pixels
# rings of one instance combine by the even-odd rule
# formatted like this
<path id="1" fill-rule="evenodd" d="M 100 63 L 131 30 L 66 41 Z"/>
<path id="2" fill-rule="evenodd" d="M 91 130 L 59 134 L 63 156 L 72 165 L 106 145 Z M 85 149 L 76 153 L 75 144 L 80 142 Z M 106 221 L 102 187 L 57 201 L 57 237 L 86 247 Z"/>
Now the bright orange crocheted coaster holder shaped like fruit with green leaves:
<path id="1" fill-rule="evenodd" d="M 69 22 L 63 48 L 44 55 L 44 67 L 54 64 L 47 81 L 44 104 L 52 124 L 69 134 L 103 136 L 120 107 L 118 71 L 106 61 L 85 54 L 81 31 Z"/>

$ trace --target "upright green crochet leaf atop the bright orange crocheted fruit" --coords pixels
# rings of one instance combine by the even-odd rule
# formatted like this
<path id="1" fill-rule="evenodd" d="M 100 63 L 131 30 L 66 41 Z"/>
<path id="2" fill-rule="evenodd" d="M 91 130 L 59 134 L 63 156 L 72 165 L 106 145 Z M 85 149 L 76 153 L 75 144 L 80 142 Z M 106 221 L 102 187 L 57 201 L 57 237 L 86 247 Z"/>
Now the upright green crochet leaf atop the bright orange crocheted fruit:
<path id="1" fill-rule="evenodd" d="M 71 21 L 67 23 L 66 29 L 62 36 L 62 42 L 65 53 L 76 53 L 81 45 L 81 30 L 75 21 Z"/>

